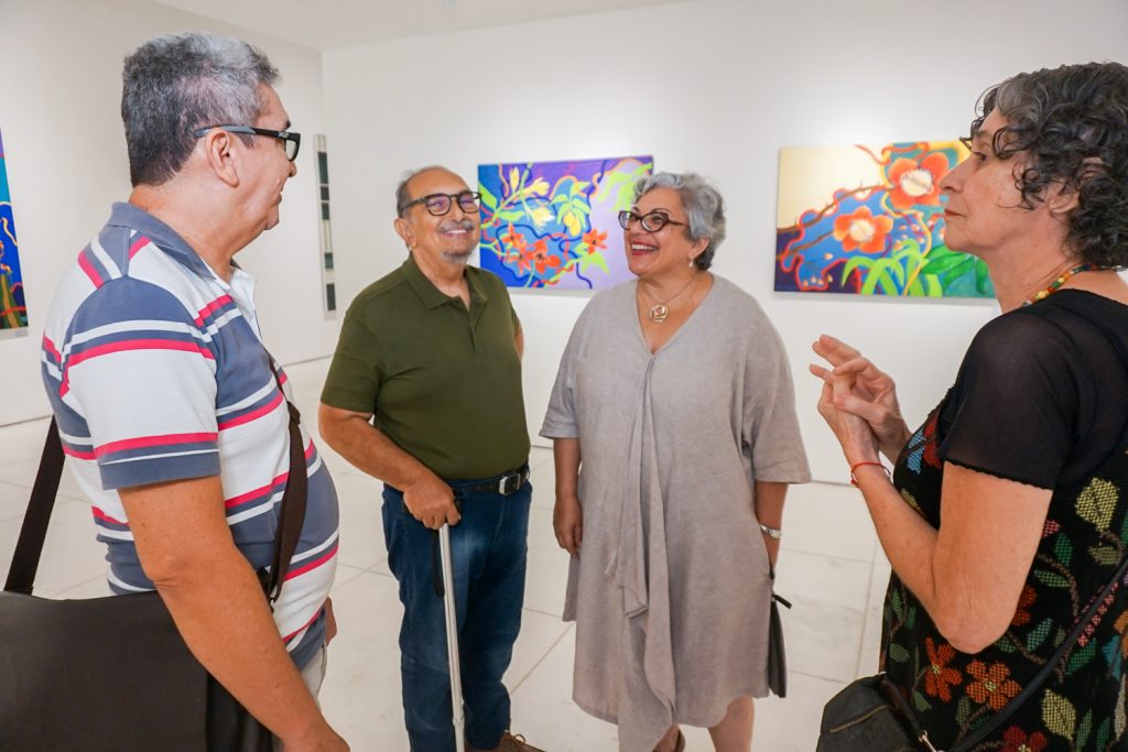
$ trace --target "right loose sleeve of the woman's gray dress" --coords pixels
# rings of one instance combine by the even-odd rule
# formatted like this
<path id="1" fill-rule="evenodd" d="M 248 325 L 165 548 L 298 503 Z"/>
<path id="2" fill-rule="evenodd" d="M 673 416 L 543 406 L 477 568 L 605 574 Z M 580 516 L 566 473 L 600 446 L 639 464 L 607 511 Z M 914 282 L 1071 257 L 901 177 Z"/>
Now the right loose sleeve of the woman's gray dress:
<path id="1" fill-rule="evenodd" d="M 742 441 L 752 475 L 768 483 L 807 483 L 811 470 L 799 431 L 795 388 L 779 334 L 757 307 L 743 380 Z"/>

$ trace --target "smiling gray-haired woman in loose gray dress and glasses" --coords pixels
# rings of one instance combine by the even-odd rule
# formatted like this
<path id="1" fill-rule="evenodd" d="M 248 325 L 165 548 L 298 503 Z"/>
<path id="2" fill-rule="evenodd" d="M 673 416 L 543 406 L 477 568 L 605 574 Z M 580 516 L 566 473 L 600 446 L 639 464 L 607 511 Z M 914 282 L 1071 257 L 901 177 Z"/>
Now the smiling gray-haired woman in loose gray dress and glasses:
<path id="1" fill-rule="evenodd" d="M 679 724 L 747 752 L 784 495 L 809 479 L 791 373 L 756 301 L 707 271 L 716 189 L 663 172 L 636 194 L 619 221 L 638 278 L 580 316 L 540 431 L 572 555 L 574 699 L 622 752 L 680 751 Z"/>

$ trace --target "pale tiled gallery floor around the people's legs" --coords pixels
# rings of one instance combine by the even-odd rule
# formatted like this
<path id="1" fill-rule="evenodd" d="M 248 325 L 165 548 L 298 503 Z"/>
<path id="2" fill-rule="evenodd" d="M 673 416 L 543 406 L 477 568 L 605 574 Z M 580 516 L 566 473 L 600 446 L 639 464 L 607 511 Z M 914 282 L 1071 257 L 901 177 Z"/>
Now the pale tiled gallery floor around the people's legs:
<path id="1" fill-rule="evenodd" d="M 287 369 L 316 431 L 326 361 Z M 6 572 L 23 517 L 46 421 L 0 427 L 0 572 Z M 379 484 L 318 448 L 341 496 L 341 564 L 333 592 L 341 634 L 329 654 L 321 702 L 329 722 L 358 752 L 407 749 L 399 700 L 396 636 L 402 608 L 388 573 L 380 529 Z M 548 752 L 614 752 L 615 727 L 572 701 L 574 628 L 561 621 L 567 556 L 552 532 L 552 452 L 532 452 L 534 512 L 521 637 L 506 683 L 513 728 Z M 107 592 L 100 546 L 88 506 L 64 477 L 47 536 L 37 594 L 90 598 Z M 757 702 L 757 752 L 810 752 L 823 702 L 856 675 L 875 670 L 880 603 L 889 565 L 857 493 L 811 484 L 791 490 L 777 591 L 784 611 L 790 696 Z M 705 729 L 686 729 L 687 749 L 712 750 Z"/>

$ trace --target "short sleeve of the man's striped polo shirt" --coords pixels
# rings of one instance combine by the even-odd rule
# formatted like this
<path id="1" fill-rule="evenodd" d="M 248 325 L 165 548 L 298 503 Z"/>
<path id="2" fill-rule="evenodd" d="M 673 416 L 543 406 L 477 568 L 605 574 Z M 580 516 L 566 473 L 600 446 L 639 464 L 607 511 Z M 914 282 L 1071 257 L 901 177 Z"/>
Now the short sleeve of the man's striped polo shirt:
<path id="1" fill-rule="evenodd" d="M 103 488 L 219 475 L 215 345 L 179 300 L 114 280 L 74 312 L 64 350 L 63 401 L 86 419 Z"/>

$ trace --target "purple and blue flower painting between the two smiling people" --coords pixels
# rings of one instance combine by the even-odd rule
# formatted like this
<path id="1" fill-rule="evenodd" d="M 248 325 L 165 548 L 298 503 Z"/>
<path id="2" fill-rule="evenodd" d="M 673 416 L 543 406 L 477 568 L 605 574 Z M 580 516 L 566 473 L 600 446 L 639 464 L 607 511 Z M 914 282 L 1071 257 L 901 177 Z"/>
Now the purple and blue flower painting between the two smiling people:
<path id="1" fill-rule="evenodd" d="M 631 278 L 618 212 L 653 157 L 481 165 L 482 268 L 510 287 L 600 290 Z"/>

